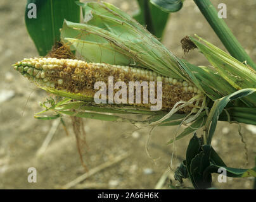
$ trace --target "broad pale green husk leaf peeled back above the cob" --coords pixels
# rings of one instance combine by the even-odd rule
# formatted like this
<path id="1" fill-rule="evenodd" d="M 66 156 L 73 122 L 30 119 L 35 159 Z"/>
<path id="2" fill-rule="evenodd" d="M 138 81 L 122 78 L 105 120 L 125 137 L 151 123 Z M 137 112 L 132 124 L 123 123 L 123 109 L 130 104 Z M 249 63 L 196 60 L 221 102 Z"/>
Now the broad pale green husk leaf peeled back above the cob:
<path id="1" fill-rule="evenodd" d="M 126 13 L 106 3 L 86 3 L 83 8 L 87 16 L 86 24 L 65 21 L 61 29 L 64 42 L 67 42 L 66 38 L 78 38 L 81 45 L 83 41 L 107 43 L 113 51 L 118 52 L 118 56 L 121 54 L 132 60 L 126 65 L 140 66 L 164 76 L 188 80 L 181 73 L 174 55 Z M 77 44 L 72 45 L 72 48 L 76 49 L 75 46 Z M 101 49 L 101 55 L 105 55 L 106 50 Z M 86 52 L 86 49 L 80 50 L 83 51 Z M 101 62 L 118 64 L 117 59 L 106 61 L 101 58 Z"/>

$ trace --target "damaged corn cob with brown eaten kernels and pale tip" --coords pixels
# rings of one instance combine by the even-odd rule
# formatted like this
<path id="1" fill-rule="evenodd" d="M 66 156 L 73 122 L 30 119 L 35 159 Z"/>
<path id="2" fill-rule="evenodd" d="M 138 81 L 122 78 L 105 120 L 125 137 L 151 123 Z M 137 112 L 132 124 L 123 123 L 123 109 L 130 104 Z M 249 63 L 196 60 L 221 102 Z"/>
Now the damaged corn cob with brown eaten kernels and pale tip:
<path id="1" fill-rule="evenodd" d="M 87 63 L 77 59 L 35 57 L 16 62 L 15 69 L 29 80 L 34 81 L 39 87 L 79 93 L 86 97 L 93 97 L 96 93 L 97 90 L 94 89 L 96 81 L 108 83 L 108 76 L 113 76 L 114 82 L 124 81 L 127 86 L 129 81 L 162 81 L 162 110 L 170 110 L 176 102 L 188 101 L 201 93 L 187 81 L 162 76 L 148 69 Z M 155 91 L 157 91 L 157 82 L 155 82 Z M 150 104 L 134 105 L 150 107 Z M 179 112 L 189 112 L 191 109 L 191 106 L 187 106 Z"/>

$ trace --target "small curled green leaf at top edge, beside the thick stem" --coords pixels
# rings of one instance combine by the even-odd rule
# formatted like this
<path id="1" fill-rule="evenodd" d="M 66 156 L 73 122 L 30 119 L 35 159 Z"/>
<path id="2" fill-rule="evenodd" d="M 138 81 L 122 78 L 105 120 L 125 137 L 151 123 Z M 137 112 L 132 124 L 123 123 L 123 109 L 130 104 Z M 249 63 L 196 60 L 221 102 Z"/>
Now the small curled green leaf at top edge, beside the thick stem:
<path id="1" fill-rule="evenodd" d="M 179 11 L 183 5 L 181 0 L 150 0 L 150 2 L 168 13 Z"/>

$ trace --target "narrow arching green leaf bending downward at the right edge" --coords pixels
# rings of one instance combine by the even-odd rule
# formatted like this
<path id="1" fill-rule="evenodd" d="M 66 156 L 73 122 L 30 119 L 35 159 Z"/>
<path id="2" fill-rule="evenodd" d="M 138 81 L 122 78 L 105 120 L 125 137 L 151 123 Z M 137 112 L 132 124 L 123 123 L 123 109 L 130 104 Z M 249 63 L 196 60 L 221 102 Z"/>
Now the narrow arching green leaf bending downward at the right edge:
<path id="1" fill-rule="evenodd" d="M 212 141 L 212 137 L 214 136 L 215 128 L 217 126 L 217 121 L 219 120 L 219 116 L 222 113 L 224 107 L 226 107 L 226 105 L 230 101 L 251 95 L 255 91 L 256 88 L 245 88 L 243 90 L 238 90 L 231 95 L 227 95 L 226 97 L 215 100 L 214 105 L 212 106 L 212 109 L 210 110 L 207 121 L 205 123 L 208 145 L 210 145 Z"/>

